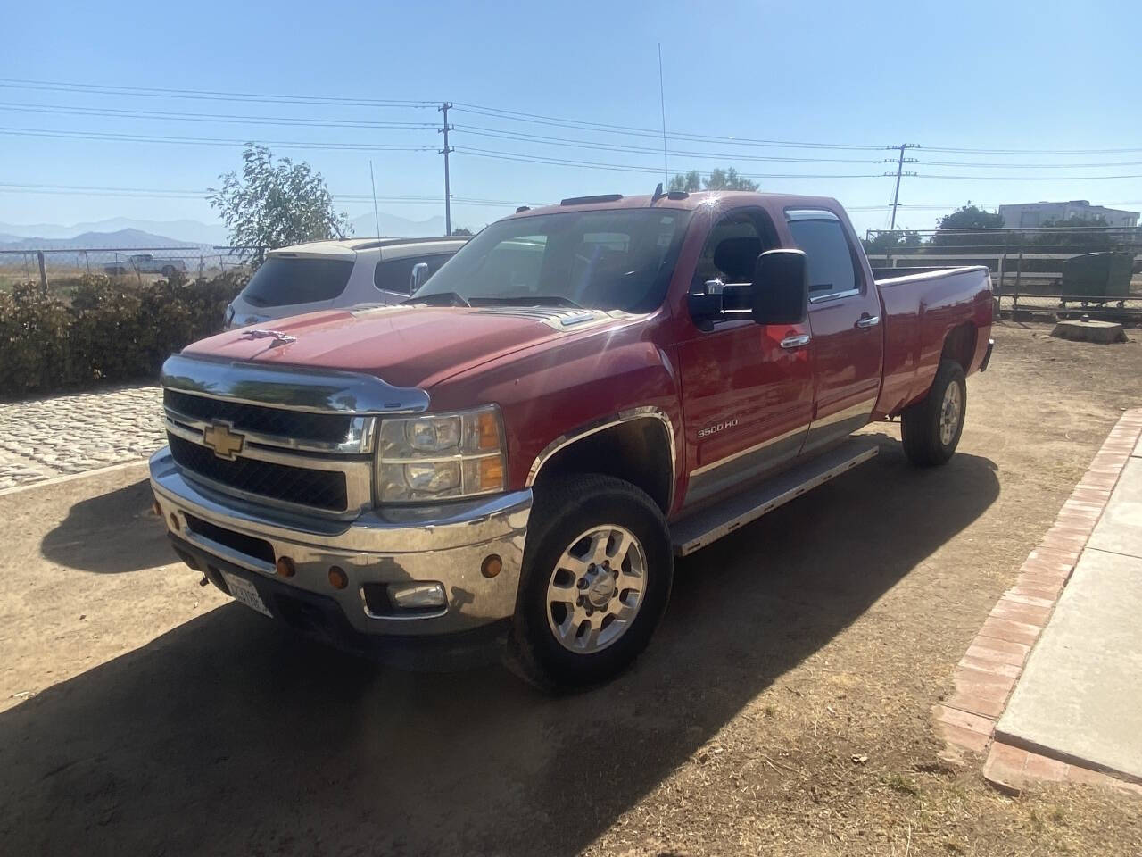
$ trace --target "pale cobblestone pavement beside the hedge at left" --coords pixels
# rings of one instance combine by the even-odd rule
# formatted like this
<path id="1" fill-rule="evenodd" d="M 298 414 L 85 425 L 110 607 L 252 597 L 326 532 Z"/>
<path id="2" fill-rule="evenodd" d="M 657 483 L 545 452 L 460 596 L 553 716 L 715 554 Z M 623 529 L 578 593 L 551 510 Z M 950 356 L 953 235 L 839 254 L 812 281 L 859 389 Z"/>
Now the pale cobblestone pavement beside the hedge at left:
<path id="1" fill-rule="evenodd" d="M 139 460 L 164 442 L 156 386 L 0 403 L 0 490 Z"/>

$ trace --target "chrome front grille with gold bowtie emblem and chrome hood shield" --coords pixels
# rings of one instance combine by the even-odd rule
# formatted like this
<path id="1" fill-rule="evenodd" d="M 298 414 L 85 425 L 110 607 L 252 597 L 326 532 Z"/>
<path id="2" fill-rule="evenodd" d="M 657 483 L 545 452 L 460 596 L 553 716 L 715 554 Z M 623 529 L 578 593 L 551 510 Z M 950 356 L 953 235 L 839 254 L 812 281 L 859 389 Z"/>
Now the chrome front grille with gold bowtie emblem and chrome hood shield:
<path id="1" fill-rule="evenodd" d="M 428 394 L 362 373 L 175 354 L 162 366 L 171 457 L 188 478 L 243 500 L 352 518 L 372 507 L 385 414 Z"/>

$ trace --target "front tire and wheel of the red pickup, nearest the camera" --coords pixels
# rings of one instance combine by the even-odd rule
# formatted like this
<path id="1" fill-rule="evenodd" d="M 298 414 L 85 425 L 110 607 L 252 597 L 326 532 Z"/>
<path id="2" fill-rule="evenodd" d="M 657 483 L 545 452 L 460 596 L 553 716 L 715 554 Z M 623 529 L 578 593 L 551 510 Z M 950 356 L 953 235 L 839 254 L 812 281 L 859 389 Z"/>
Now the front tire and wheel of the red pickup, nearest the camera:
<path id="1" fill-rule="evenodd" d="M 537 487 L 508 667 L 548 692 L 613 678 L 646 648 L 673 580 L 666 519 L 644 491 L 603 475 Z"/>

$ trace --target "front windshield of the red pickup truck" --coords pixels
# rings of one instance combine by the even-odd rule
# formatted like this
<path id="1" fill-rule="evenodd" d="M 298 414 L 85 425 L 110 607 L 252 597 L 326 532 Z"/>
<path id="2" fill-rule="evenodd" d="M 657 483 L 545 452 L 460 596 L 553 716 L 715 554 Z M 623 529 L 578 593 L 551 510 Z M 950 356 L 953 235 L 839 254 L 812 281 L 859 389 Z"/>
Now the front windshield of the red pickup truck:
<path id="1" fill-rule="evenodd" d="M 413 301 L 550 304 L 651 312 L 682 245 L 687 211 L 624 208 L 499 221 L 460 248 Z"/>

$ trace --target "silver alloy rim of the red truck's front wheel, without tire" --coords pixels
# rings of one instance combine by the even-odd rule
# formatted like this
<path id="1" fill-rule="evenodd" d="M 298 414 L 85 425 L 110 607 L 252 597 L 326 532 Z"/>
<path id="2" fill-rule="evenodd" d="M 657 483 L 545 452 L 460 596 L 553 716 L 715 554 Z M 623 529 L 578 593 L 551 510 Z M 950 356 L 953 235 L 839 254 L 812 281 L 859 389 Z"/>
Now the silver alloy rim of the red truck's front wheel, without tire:
<path id="1" fill-rule="evenodd" d="M 646 592 L 646 552 L 630 530 L 600 524 L 574 539 L 547 584 L 547 624 L 577 655 L 627 632 Z"/>

